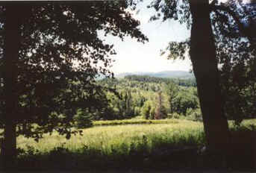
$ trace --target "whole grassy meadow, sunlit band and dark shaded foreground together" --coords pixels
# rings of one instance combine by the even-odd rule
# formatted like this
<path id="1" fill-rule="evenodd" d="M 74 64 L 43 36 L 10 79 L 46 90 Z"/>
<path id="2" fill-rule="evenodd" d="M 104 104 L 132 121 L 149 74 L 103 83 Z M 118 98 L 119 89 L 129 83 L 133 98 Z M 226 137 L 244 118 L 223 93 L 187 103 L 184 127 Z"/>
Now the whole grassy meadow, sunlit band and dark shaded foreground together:
<path id="1" fill-rule="evenodd" d="M 252 131 L 255 122 L 230 126 L 233 133 Z M 13 163 L 17 169 L 201 169 L 222 164 L 218 158 L 199 154 L 205 145 L 202 122 L 181 119 L 99 121 L 83 129 L 83 136 L 69 140 L 52 133 L 39 142 L 19 136 L 17 143 L 19 155 Z"/>

